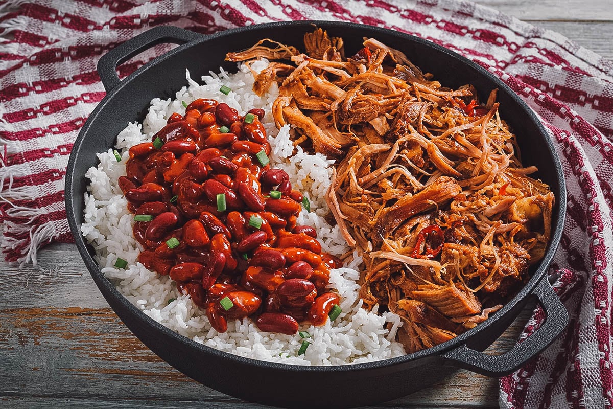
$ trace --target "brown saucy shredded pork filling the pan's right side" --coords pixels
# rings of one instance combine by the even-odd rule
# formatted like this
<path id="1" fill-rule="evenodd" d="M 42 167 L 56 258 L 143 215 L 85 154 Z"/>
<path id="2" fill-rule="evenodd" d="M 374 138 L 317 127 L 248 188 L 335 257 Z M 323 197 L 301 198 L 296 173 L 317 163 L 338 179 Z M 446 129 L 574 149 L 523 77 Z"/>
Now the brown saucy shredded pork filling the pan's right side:
<path id="1" fill-rule="evenodd" d="M 484 321 L 543 257 L 554 206 L 516 155 L 497 90 L 482 104 L 473 86 L 445 88 L 375 39 L 349 57 L 321 29 L 304 42 L 300 53 L 262 40 L 227 59 L 270 60 L 254 91 L 278 83 L 276 125 L 337 159 L 326 202 L 364 258 L 365 308 L 402 317 L 408 352 Z"/>

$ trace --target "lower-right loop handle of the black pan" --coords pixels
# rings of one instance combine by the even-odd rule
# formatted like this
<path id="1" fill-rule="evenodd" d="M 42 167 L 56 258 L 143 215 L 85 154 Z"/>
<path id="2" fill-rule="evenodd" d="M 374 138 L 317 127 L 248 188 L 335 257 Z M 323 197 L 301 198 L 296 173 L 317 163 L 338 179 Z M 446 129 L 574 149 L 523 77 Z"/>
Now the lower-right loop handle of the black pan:
<path id="1" fill-rule="evenodd" d="M 442 357 L 453 361 L 452 365 L 489 377 L 501 377 L 517 370 L 533 356 L 547 348 L 568 324 L 568 311 L 555 294 L 554 289 L 551 288 L 547 276 L 541 280 L 532 294 L 538 297 L 539 304 L 546 313 L 545 321 L 535 332 L 517 343 L 511 350 L 501 355 L 489 355 L 463 344 L 446 351 Z"/>

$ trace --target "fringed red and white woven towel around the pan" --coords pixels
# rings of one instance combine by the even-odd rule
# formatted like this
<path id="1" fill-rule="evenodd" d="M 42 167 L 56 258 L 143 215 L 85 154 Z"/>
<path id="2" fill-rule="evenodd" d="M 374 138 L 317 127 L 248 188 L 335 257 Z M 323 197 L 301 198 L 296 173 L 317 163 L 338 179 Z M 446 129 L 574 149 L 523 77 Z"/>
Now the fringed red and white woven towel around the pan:
<path id="1" fill-rule="evenodd" d="M 70 148 L 104 97 L 97 59 L 156 25 L 210 33 L 273 20 L 345 20 L 408 32 L 487 67 L 549 129 L 568 183 L 552 271 L 571 313 L 550 348 L 500 380 L 503 408 L 610 408 L 613 63 L 560 34 L 459 0 L 9 1 L 0 6 L 0 221 L 9 261 L 70 241 Z M 158 48 L 159 51 L 159 48 Z M 120 71 L 147 62 L 143 53 Z M 443 78 L 444 79 L 444 78 Z M 537 308 L 525 336 L 543 319 Z"/>

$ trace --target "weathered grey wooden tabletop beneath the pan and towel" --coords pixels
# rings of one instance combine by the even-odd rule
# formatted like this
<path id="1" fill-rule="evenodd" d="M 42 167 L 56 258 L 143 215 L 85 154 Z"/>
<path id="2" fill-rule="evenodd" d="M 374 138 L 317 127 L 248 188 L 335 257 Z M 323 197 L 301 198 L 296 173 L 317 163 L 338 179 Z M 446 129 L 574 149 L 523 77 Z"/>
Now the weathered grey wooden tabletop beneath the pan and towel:
<path id="1" fill-rule="evenodd" d="M 611 0 L 479 3 L 613 59 Z M 520 318 L 493 349 L 512 345 L 521 327 Z M 44 248 L 36 267 L 0 262 L 0 407 L 257 406 L 192 381 L 148 350 L 109 308 L 73 245 Z M 498 407 L 498 383 L 460 370 L 381 406 Z"/>

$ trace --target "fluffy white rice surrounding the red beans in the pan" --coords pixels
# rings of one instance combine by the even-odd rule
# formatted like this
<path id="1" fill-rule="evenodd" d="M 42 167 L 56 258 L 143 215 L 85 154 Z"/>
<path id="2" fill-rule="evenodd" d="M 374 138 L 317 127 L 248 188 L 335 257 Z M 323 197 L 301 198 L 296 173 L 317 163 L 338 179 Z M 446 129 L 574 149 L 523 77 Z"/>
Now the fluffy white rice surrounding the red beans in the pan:
<path id="1" fill-rule="evenodd" d="M 260 61 L 252 67 L 257 70 L 267 64 L 267 61 Z M 191 102 L 203 97 L 226 102 L 242 114 L 254 107 L 265 110 L 262 123 L 272 145 L 272 164 L 285 170 L 290 175 L 292 186 L 311 199 L 311 213 L 302 210 L 298 223 L 316 227 L 322 251 L 337 255 L 349 251 L 338 226 L 330 226 L 324 219 L 329 213 L 324 193 L 330 183 L 333 161 L 319 153 L 308 155 L 300 147 L 292 155 L 294 147 L 289 139 L 289 126 L 277 130 L 270 113 L 272 102 L 278 95 L 276 85 L 273 84 L 265 96 L 257 96 L 251 91 L 253 75 L 245 66 L 240 66 L 237 74 L 228 74 L 223 69 L 220 74 L 211 72 L 211 75 L 202 77 L 204 85 L 192 80 L 189 72 L 186 77 L 189 86 L 181 88 L 174 100 L 153 99 L 143 124 L 129 123 L 120 132 L 116 144 L 122 158 L 120 162 L 116 161 L 112 150 L 99 153 L 100 164 L 86 173 L 91 184 L 89 193 L 85 194 L 85 223 L 81 231 L 96 249 L 95 259 L 105 277 L 143 313 L 185 337 L 221 351 L 299 365 L 359 363 L 405 354 L 402 344 L 394 342 L 397 328 L 402 325 L 400 317 L 393 313 L 378 315 L 376 308 L 372 312 L 360 308 L 362 300 L 358 295 L 357 269 L 362 261 L 357 254 L 349 266 L 330 273 L 330 288 L 340 294 L 343 313 L 333 323 L 327 319 L 320 327 L 301 327 L 301 331 L 309 332 L 313 342 L 301 356 L 296 356 L 302 343 L 298 334 L 262 332 L 248 318 L 229 320 L 227 332 L 219 334 L 208 323 L 204 311 L 199 310 L 189 296 L 179 294 L 174 281 L 167 275 L 147 270 L 137 262 L 142 248 L 132 237 L 133 215 L 128 212 L 126 199 L 117 182 L 126 173 L 128 148 L 151 140 L 173 112 L 184 113 L 182 101 Z M 220 93 L 221 85 L 229 86 L 232 91 L 227 96 Z M 117 258 L 128 261 L 125 270 L 113 267 Z M 169 299 L 175 300 L 168 304 Z M 384 329 L 386 323 L 392 323 L 390 331 Z"/>

